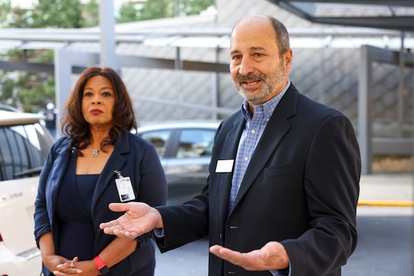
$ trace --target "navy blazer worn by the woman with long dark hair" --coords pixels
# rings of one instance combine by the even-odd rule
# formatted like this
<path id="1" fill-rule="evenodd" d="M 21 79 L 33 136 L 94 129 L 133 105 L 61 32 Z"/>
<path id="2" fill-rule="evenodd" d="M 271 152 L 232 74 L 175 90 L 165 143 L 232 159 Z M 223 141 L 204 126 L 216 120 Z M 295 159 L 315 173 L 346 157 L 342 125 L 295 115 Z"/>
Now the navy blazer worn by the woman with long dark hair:
<path id="1" fill-rule="evenodd" d="M 57 192 L 70 155 L 72 155 L 70 139 L 68 137 L 60 138 L 52 146 L 41 171 L 34 210 L 34 236 L 38 246 L 41 235 L 51 232 L 55 248 L 59 248 L 57 243 L 58 227 L 54 219 L 55 205 Z M 92 196 L 91 213 L 96 229 L 95 255 L 98 255 L 115 239 L 114 235 L 106 235 L 103 230 L 99 229 L 101 222 L 119 217 L 119 213 L 112 212 L 108 208 L 108 204 L 111 202 L 120 202 L 115 185 L 114 170 L 120 170 L 121 175 L 130 177 L 136 197 L 135 201 L 143 201 L 150 206 L 166 204 L 166 177 L 154 146 L 130 132 L 121 132 L 115 141 L 114 150 L 99 176 Z M 137 250 L 112 266 L 108 275 L 132 275 L 134 271 L 139 270 L 154 258 L 153 244 L 146 239 L 138 239 Z M 43 267 L 43 271 L 46 270 Z"/>

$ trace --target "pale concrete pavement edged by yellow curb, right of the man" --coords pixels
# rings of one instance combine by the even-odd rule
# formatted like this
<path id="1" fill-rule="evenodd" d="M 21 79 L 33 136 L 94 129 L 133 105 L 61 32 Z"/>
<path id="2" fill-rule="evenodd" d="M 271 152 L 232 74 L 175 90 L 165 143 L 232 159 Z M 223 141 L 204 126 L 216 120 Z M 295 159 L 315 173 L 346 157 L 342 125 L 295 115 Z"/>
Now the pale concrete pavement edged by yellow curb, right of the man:
<path id="1" fill-rule="evenodd" d="M 414 206 L 413 173 L 373 173 L 359 181 L 358 206 Z"/>

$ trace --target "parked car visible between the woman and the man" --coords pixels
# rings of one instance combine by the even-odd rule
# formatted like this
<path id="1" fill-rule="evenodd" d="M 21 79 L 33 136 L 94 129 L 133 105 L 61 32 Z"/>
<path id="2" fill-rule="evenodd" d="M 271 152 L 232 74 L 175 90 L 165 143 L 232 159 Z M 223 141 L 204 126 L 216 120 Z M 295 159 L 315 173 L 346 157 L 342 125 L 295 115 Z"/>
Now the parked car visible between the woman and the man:
<path id="1" fill-rule="evenodd" d="M 201 191 L 208 177 L 211 150 L 219 122 L 167 122 L 138 128 L 154 144 L 168 182 L 169 201 Z"/>

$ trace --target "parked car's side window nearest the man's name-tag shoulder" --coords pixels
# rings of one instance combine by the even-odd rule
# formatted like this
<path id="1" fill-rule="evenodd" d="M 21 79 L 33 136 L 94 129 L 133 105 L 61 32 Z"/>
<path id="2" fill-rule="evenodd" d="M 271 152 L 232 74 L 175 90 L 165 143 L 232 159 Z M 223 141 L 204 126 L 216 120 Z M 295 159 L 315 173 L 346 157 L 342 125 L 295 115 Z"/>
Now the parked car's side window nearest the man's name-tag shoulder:
<path id="1" fill-rule="evenodd" d="M 181 130 L 177 158 L 210 156 L 215 130 Z"/>

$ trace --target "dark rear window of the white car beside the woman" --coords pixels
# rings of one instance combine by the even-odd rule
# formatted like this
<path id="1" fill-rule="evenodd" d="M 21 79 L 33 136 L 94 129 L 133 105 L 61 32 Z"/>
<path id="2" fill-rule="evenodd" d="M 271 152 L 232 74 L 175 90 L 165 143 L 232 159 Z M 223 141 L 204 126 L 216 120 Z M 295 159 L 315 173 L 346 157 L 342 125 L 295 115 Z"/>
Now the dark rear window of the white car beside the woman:
<path id="1" fill-rule="evenodd" d="M 0 128 L 0 180 L 39 174 L 48 150 L 41 148 L 39 130 L 39 124 Z"/>

